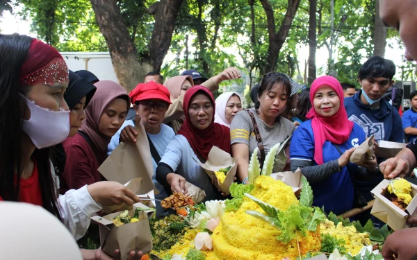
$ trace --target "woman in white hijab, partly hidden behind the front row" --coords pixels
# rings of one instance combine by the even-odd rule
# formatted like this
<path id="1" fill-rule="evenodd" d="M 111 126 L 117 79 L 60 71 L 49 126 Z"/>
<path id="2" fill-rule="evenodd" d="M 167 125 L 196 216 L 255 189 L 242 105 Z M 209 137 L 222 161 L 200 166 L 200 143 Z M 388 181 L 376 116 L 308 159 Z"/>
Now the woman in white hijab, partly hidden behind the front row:
<path id="1" fill-rule="evenodd" d="M 226 92 L 215 99 L 214 121 L 230 128 L 230 123 L 237 112 L 242 110 L 242 98 L 236 92 Z"/>

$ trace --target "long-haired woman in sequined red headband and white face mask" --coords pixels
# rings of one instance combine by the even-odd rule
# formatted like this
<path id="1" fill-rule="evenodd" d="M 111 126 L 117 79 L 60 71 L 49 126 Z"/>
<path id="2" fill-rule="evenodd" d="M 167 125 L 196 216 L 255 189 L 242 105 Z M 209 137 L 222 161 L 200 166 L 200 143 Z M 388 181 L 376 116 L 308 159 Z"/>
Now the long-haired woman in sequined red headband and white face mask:
<path id="1" fill-rule="evenodd" d="M 85 201 L 76 198 L 104 197 L 83 187 L 57 198 L 49 147 L 70 133 L 70 111 L 63 98 L 67 65 L 43 42 L 0 35 L 0 71 L 0 200 L 42 206 L 79 238 L 80 216 L 95 212 L 83 212 Z M 85 232 L 83 225 L 81 229 Z M 91 259 L 110 259 L 100 250 L 88 254 L 95 255 Z"/>

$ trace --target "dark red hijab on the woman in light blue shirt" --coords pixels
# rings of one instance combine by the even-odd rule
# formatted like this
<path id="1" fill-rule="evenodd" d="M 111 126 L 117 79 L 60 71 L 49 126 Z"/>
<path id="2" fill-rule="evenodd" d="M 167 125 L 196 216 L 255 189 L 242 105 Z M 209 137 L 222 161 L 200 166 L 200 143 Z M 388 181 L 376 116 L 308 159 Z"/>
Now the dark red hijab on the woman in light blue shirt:
<path id="1" fill-rule="evenodd" d="M 205 94 L 210 98 L 211 105 L 213 105 L 213 117 L 211 124 L 204 130 L 199 130 L 190 121 L 190 115 L 188 114 L 188 106 L 190 105 L 191 99 L 196 94 Z M 230 129 L 227 126 L 214 123 L 215 114 L 215 102 L 214 96 L 210 90 L 203 86 L 194 86 L 187 90 L 184 95 L 183 110 L 186 116 L 186 121 L 178 131 L 178 135 L 183 135 L 190 143 L 194 153 L 199 159 L 207 160 L 208 153 L 213 146 L 230 153 Z"/>

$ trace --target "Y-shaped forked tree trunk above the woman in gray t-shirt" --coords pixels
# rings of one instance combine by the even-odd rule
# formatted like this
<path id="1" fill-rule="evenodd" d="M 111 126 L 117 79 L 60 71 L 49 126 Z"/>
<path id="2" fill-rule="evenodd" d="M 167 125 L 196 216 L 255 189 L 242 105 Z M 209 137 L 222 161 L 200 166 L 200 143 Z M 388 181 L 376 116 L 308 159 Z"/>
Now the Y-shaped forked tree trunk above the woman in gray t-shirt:
<path id="1" fill-rule="evenodd" d="M 278 33 L 275 31 L 274 10 L 272 10 L 270 2 L 268 0 L 261 0 L 261 3 L 263 10 L 265 10 L 269 35 L 267 64 L 261 70 L 261 74 L 263 74 L 274 71 L 277 66 L 279 51 L 281 51 L 282 45 L 288 36 L 291 24 L 293 24 L 295 13 L 297 12 L 298 6 L 300 6 L 300 0 L 288 0 L 288 8 Z"/>

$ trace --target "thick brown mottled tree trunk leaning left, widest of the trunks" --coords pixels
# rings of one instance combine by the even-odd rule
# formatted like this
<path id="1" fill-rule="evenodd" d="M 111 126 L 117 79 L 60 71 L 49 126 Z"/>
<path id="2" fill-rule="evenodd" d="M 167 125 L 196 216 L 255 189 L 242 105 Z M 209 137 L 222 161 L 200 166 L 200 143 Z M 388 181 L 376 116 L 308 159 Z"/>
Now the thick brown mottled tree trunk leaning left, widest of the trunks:
<path id="1" fill-rule="evenodd" d="M 138 61 L 135 45 L 116 1 L 90 0 L 101 34 L 106 39 L 117 79 L 128 92 L 152 71 L 149 60 Z"/>

